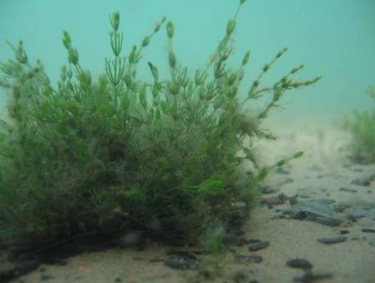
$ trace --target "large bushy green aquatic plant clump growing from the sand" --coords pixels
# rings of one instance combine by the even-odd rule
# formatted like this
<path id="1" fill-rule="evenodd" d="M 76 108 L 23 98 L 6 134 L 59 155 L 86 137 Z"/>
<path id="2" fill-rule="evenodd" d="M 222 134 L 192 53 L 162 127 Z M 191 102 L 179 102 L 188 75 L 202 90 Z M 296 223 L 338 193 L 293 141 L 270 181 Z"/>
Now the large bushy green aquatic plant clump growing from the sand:
<path id="1" fill-rule="evenodd" d="M 285 91 L 319 80 L 294 81 L 298 66 L 261 86 L 284 48 L 264 65 L 247 96 L 239 96 L 250 53 L 238 68 L 226 63 L 239 9 L 206 68 L 192 77 L 177 59 L 174 24 L 166 19 L 123 56 L 119 13 L 112 14 L 113 57 L 96 79 L 64 31 L 69 63 L 56 87 L 40 61 L 29 62 L 21 41 L 9 44 L 15 58 L 0 64 L 0 85 L 12 95 L 0 132 L 1 241 L 34 249 L 136 230 L 196 244 L 212 223 L 227 231 L 239 227 L 269 170 L 302 154 L 259 166 L 254 138 L 274 138 L 261 121 Z M 169 76 L 161 78 L 148 62 L 153 81 L 141 81 L 141 53 L 164 24 Z M 271 100 L 251 110 L 249 103 L 265 93 Z"/>

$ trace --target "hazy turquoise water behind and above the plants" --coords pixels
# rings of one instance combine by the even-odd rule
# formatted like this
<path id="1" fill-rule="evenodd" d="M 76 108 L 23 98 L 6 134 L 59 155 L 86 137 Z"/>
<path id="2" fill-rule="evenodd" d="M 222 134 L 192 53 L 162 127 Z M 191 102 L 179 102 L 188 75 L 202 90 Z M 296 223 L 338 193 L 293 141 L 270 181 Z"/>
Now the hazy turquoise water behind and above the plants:
<path id="1" fill-rule="evenodd" d="M 5 40 L 24 41 L 31 60 L 41 58 L 51 81 L 59 78 L 66 63 L 62 31 L 71 34 L 79 50 L 81 66 L 97 76 L 104 70 L 104 57 L 111 56 L 109 14 L 120 11 L 126 55 L 134 43 L 153 30 L 166 16 L 175 24 L 174 50 L 178 60 L 191 69 L 205 66 L 224 35 L 226 22 L 234 15 L 236 0 L 1 0 L 0 61 L 10 56 Z M 264 63 L 281 48 L 289 51 L 267 73 L 264 83 L 273 83 L 301 63 L 296 78 L 323 76 L 316 86 L 292 91 L 283 101 L 284 110 L 274 111 L 275 120 L 333 120 L 354 109 L 366 109 L 372 101 L 364 94 L 375 84 L 374 0 L 247 0 L 236 30 L 236 48 L 230 63 L 238 66 L 247 50 L 243 91 L 259 74 Z M 144 51 L 140 78 L 150 78 L 146 64 L 159 66 L 168 76 L 166 34 L 162 29 Z M 6 93 L 1 93 L 4 108 Z"/>

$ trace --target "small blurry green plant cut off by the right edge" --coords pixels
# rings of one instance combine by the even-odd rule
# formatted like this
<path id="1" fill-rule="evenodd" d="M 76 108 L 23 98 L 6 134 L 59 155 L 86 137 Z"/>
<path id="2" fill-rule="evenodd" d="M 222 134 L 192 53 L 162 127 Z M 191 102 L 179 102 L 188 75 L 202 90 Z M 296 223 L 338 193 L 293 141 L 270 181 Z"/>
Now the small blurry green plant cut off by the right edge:
<path id="1" fill-rule="evenodd" d="M 353 158 L 364 163 L 375 162 L 375 87 L 366 93 L 374 99 L 374 108 L 368 111 L 356 111 L 346 117 L 344 128 L 349 130 L 352 141 L 349 145 Z"/>

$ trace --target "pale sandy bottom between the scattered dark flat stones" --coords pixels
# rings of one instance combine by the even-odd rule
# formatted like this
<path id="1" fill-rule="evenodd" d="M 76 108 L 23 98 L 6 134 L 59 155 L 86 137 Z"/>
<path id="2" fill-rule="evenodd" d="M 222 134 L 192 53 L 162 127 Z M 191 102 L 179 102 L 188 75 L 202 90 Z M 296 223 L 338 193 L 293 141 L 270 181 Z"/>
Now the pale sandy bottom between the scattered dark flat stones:
<path id="1" fill-rule="evenodd" d="M 313 195 L 312 198 L 327 197 L 326 194 L 329 194 L 328 197 L 336 201 L 358 199 L 375 203 L 375 181 L 368 187 L 350 184 L 351 180 L 374 172 L 375 165 L 354 165 L 345 149 L 350 136 L 341 130 L 326 125 L 324 127 L 284 127 L 282 131 L 276 130 L 278 140 L 256 144 L 266 164 L 272 164 L 297 150 L 305 151 L 303 157 L 292 160 L 284 167 L 289 170 L 289 175 L 273 173 L 266 183 L 278 187 L 278 193 L 284 192 L 288 196 L 295 195 L 299 188 L 306 188 Z M 285 182 L 287 178 L 293 181 Z M 350 187 L 357 192 L 343 192 L 339 187 Z M 375 229 L 374 220 L 360 219 L 356 223 L 347 221 L 339 227 L 328 227 L 314 222 L 273 218 L 276 209 L 286 207 L 289 207 L 288 203 L 275 206 L 274 209 L 256 207 L 246 225 L 246 239 L 269 240 L 269 247 L 258 252 L 249 252 L 248 245 L 234 248 L 245 254 L 259 254 L 263 256 L 263 262 L 236 263 L 229 252 L 224 275 L 214 281 L 201 282 L 235 282 L 233 277 L 236 271 L 241 271 L 246 277 L 246 280 L 237 282 L 247 283 L 255 279 L 259 283 L 293 282 L 293 278 L 303 272 L 301 269 L 286 267 L 286 261 L 296 257 L 308 259 L 314 265 L 313 272 L 333 274 L 331 279 L 319 282 L 375 282 L 375 243 L 369 244 L 371 238 L 375 242 L 375 234 L 361 232 L 363 227 Z M 346 242 L 335 245 L 316 242 L 321 237 L 340 235 L 340 230 L 350 231 L 346 235 L 349 238 Z M 115 282 L 117 277 L 127 283 L 194 282 L 196 271 L 175 270 L 164 265 L 161 260 L 167 249 L 147 247 L 141 252 L 111 249 L 81 254 L 68 259 L 65 266 L 43 264 L 36 271 L 13 282 L 40 282 L 41 274 L 54 277 L 46 282 Z M 45 271 L 41 272 L 41 268 Z"/>

